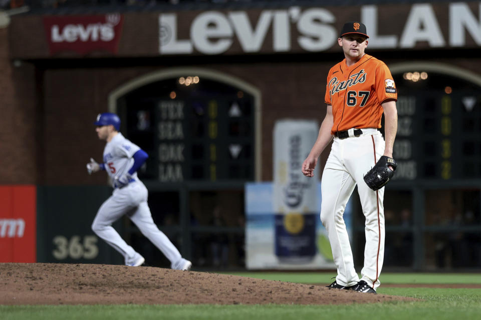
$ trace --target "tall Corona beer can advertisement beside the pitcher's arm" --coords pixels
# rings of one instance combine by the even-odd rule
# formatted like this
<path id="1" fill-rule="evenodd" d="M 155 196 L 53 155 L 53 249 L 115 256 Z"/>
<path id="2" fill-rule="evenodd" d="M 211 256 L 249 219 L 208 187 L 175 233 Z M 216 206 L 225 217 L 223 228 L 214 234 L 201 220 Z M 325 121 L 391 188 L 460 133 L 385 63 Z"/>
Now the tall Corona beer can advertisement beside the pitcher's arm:
<path id="1" fill-rule="evenodd" d="M 302 174 L 302 162 L 319 126 L 310 120 L 279 120 L 274 126 L 274 248 L 280 262 L 303 264 L 316 254 L 316 181 Z"/>

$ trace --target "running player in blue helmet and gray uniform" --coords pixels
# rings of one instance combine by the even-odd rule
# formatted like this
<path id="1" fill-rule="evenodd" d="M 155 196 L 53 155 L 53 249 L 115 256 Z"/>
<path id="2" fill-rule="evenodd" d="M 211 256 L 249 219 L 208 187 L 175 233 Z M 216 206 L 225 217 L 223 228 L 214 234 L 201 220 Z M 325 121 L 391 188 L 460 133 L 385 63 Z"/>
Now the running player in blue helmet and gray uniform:
<path id="1" fill-rule="evenodd" d="M 147 159 L 147 153 L 119 132 L 120 118 L 117 114 L 101 113 L 94 124 L 97 125 L 99 139 L 106 140 L 107 144 L 103 163 L 97 163 L 90 158 L 87 170 L 89 174 L 99 170 L 107 171 L 114 190 L 100 206 L 92 223 L 92 230 L 124 256 L 126 265 L 142 265 L 145 262 L 144 257 L 128 245 L 112 227 L 113 222 L 127 214 L 142 234 L 170 260 L 171 268 L 189 270 L 192 263 L 182 258 L 177 248 L 152 219 L 147 204 L 147 188 L 136 172 Z"/>

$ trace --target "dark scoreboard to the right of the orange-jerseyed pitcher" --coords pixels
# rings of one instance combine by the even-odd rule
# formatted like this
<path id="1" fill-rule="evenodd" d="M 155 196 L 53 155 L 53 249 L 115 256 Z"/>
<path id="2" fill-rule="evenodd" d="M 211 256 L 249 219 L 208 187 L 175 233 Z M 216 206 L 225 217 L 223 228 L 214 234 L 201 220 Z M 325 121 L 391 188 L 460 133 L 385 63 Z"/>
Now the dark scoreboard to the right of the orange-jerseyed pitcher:
<path id="1" fill-rule="evenodd" d="M 481 177 L 481 99 L 472 91 L 399 96 L 394 179 Z"/>

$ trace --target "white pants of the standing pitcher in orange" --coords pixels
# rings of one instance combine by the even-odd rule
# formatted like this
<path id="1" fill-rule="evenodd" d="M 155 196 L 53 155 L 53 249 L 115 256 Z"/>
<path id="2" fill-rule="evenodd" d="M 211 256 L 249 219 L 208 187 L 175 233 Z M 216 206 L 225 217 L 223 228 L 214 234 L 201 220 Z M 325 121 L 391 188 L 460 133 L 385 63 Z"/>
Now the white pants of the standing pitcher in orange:
<path id="1" fill-rule="evenodd" d="M 321 180 L 321 221 L 331 242 L 337 283 L 354 285 L 359 277 L 354 269 L 349 236 L 343 214 L 347 201 L 357 183 L 362 211 L 366 217 L 364 267 L 361 279 L 376 289 L 384 258 L 384 187 L 373 191 L 363 176 L 384 153 L 384 139 L 379 131 L 369 129 L 358 137 L 334 137 L 331 153 Z M 366 130 L 367 131 L 367 130 Z"/>

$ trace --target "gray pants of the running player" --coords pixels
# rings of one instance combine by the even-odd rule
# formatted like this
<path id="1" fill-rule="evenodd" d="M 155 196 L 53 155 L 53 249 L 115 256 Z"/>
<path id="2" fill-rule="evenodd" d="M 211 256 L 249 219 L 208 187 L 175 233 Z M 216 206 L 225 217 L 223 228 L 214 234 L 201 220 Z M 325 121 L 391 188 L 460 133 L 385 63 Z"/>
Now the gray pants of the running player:
<path id="1" fill-rule="evenodd" d="M 113 222 L 127 214 L 142 234 L 170 260 L 173 268 L 182 256 L 154 223 L 147 204 L 147 196 L 147 188 L 141 181 L 130 182 L 123 188 L 114 189 L 112 195 L 100 206 L 92 223 L 92 230 L 127 260 L 136 252 L 112 227 Z"/>

